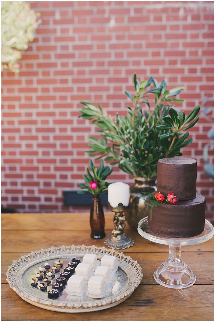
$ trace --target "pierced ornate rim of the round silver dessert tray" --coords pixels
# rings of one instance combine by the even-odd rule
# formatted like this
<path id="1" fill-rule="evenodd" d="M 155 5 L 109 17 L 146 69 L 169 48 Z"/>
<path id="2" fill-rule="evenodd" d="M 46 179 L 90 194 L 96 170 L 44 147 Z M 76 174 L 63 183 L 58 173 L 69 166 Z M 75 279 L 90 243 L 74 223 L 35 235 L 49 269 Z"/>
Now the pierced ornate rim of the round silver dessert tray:
<path id="1" fill-rule="evenodd" d="M 129 274 L 131 274 L 132 283 L 129 286 L 129 289 L 124 291 L 120 296 L 117 298 L 105 301 L 95 301 L 94 303 L 91 303 L 88 306 L 83 306 L 82 304 L 75 304 L 75 303 L 67 303 L 66 305 L 63 303 L 55 303 L 51 304 L 49 301 L 45 301 L 42 299 L 35 299 L 31 295 L 25 294 L 25 292 L 19 288 L 17 285 L 17 275 L 22 270 L 26 270 L 32 265 L 34 265 L 37 262 L 40 262 L 41 260 L 48 260 L 48 258 L 58 258 L 61 257 L 67 257 L 71 254 L 84 255 L 87 252 L 94 253 L 98 257 L 103 257 L 103 255 L 112 255 L 115 256 L 119 260 L 119 267 L 122 270 L 129 269 Z M 71 246 L 60 246 L 60 247 L 50 247 L 48 249 L 41 249 L 40 251 L 31 251 L 31 253 L 21 256 L 19 260 L 13 260 L 13 264 L 9 266 L 8 271 L 6 272 L 7 276 L 7 282 L 9 286 L 25 301 L 38 306 L 40 308 L 46 308 L 48 310 L 53 311 L 60 311 L 60 312 L 87 312 L 87 311 L 96 311 L 96 310 L 102 310 L 105 308 L 109 308 L 115 305 L 118 305 L 119 303 L 123 302 L 125 299 L 127 299 L 133 291 L 138 287 L 138 285 L 141 282 L 141 279 L 143 277 L 142 274 L 142 268 L 138 264 L 136 260 L 133 260 L 130 256 L 124 255 L 122 252 L 115 251 L 114 249 L 107 249 L 104 246 L 103 247 L 97 247 L 95 245 L 92 246 L 85 246 L 85 245 L 77 245 L 75 246 L 72 244 Z"/>

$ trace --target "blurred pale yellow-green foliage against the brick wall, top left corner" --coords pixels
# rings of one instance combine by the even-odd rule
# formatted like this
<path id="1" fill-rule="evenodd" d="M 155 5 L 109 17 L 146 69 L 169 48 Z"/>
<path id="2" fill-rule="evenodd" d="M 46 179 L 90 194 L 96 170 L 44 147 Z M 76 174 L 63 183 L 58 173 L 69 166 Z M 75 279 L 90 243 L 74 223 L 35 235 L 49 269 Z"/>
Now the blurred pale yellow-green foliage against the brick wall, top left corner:
<path id="1" fill-rule="evenodd" d="M 1 37 L 2 37 L 2 70 L 9 68 L 19 72 L 17 60 L 21 59 L 21 50 L 28 48 L 28 42 L 34 39 L 33 31 L 40 21 L 40 13 L 31 10 L 25 1 L 1 2 Z"/>

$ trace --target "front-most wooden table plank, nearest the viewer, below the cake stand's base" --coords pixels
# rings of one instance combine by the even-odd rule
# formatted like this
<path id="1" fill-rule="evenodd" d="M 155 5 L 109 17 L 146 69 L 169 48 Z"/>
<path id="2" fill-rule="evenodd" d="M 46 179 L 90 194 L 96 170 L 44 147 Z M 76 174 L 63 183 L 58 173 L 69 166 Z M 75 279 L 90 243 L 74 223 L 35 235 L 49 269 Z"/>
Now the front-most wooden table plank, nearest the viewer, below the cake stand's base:
<path id="1" fill-rule="evenodd" d="M 204 294 L 204 296 L 202 296 Z M 14 318 L 13 318 L 14 317 Z M 101 311 L 63 313 L 37 308 L 2 285 L 2 321 L 213 321 L 213 286 L 168 289 L 139 285 L 123 303 Z"/>

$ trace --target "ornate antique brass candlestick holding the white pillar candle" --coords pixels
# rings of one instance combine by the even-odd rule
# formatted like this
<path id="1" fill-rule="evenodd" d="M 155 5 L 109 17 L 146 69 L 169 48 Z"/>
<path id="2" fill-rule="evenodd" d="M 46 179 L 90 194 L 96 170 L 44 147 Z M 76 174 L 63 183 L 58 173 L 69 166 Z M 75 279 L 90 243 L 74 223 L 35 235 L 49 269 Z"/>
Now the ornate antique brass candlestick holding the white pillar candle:
<path id="1" fill-rule="evenodd" d="M 123 206 L 118 204 L 117 207 L 113 208 L 108 202 L 108 209 L 115 213 L 113 217 L 113 231 L 112 236 L 105 240 L 105 245 L 110 248 L 125 249 L 133 246 L 134 240 L 128 237 L 123 231 L 125 228 L 126 217 L 123 214 L 124 211 L 128 210 L 129 206 Z"/>

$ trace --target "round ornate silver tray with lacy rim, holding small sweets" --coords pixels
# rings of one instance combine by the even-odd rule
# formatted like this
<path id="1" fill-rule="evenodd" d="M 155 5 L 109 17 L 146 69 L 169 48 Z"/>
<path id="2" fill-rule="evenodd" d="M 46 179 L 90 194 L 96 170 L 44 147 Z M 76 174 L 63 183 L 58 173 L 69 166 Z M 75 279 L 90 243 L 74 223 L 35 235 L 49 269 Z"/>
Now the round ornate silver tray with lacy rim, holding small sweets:
<path id="1" fill-rule="evenodd" d="M 82 258 L 86 253 L 96 254 L 98 260 L 101 260 L 104 255 L 112 255 L 117 258 L 119 264 L 116 271 L 117 279 L 108 295 L 104 294 L 103 298 L 98 299 L 69 295 L 64 291 L 60 298 L 49 299 L 47 292 L 42 292 L 37 287 L 32 288 L 30 280 L 38 272 L 38 267 L 44 267 L 45 262 L 54 265 L 56 259 L 61 259 L 66 263 L 71 260 L 71 257 Z M 56 277 L 58 277 L 57 274 L 59 273 L 56 273 Z M 118 305 L 133 293 L 143 277 L 141 266 L 130 256 L 114 249 L 94 245 L 62 245 L 45 250 L 41 249 L 40 251 L 31 251 L 19 260 L 14 260 L 6 275 L 10 287 L 26 302 L 51 311 L 72 313 L 98 311 Z"/>

